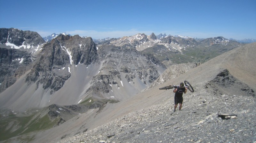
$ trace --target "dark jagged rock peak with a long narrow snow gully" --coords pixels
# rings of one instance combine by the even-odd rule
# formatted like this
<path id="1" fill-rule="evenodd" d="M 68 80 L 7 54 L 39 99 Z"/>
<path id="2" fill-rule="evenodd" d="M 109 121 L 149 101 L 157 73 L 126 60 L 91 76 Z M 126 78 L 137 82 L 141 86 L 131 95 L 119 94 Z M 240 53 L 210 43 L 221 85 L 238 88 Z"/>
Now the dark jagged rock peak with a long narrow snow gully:
<path id="1" fill-rule="evenodd" d="M 38 55 L 35 66 L 26 77 L 26 82 L 36 82 L 37 87 L 59 90 L 71 75 L 72 65 L 89 65 L 97 59 L 96 45 L 91 38 L 78 35 L 59 35 L 51 43 L 45 44 Z"/>

